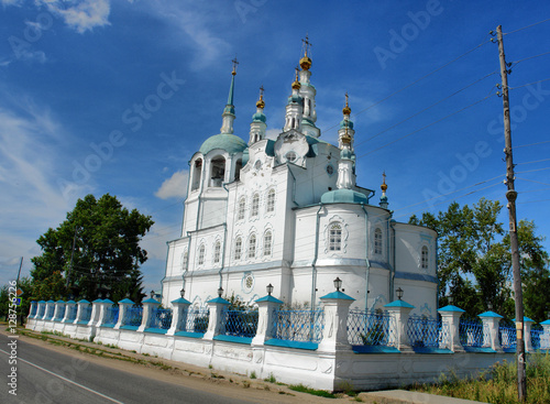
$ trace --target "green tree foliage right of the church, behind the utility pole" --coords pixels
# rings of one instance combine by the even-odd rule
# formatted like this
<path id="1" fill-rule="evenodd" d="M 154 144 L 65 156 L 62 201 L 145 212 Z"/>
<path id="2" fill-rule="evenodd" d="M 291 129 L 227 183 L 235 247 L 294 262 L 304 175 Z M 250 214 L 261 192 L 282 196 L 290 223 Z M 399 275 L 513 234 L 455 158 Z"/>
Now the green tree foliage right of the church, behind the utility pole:
<path id="1" fill-rule="evenodd" d="M 473 207 L 452 203 L 437 216 L 424 212 L 410 223 L 435 229 L 438 234 L 439 304 L 454 305 L 476 316 L 490 305 L 493 310 L 514 317 L 514 294 L 509 236 L 498 221 L 498 201 L 480 199 Z M 548 253 L 543 238 L 536 234 L 532 221 L 518 225 L 519 253 L 524 285 L 525 314 L 537 321 L 546 319 L 550 297 L 541 294 L 550 286 Z M 537 292 L 538 291 L 538 292 Z"/>

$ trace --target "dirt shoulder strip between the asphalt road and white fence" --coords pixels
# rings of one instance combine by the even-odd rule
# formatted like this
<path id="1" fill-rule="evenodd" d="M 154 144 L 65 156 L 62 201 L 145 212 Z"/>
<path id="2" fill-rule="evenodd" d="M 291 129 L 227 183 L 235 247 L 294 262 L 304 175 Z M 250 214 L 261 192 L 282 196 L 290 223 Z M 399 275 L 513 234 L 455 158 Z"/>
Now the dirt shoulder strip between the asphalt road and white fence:
<path id="1" fill-rule="evenodd" d="M 6 328 L 7 325 L 0 323 L 0 334 L 9 335 Z M 244 396 L 257 403 L 327 402 L 337 404 L 362 401 L 360 397 L 351 397 L 344 394 L 339 394 L 337 398 L 320 397 L 293 391 L 285 384 L 250 379 L 242 374 L 200 368 L 53 334 L 35 332 L 19 327 L 18 330 L 20 338 L 28 343 L 40 345 L 68 356 L 85 357 L 90 362 L 167 383 L 204 391 L 216 390 L 217 394 L 228 397 L 241 398 Z"/>

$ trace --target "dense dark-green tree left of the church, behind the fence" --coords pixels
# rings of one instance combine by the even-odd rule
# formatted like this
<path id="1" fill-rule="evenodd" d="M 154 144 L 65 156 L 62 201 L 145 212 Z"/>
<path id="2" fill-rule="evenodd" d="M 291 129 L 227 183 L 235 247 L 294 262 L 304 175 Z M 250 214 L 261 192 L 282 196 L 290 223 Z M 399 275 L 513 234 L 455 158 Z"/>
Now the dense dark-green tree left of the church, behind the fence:
<path id="1" fill-rule="evenodd" d="M 42 254 L 32 259 L 33 297 L 69 295 L 95 299 L 131 296 L 141 301 L 140 265 L 147 252 L 140 240 L 154 221 L 136 209 L 128 210 L 109 194 L 78 199 L 67 219 L 36 241 Z"/>

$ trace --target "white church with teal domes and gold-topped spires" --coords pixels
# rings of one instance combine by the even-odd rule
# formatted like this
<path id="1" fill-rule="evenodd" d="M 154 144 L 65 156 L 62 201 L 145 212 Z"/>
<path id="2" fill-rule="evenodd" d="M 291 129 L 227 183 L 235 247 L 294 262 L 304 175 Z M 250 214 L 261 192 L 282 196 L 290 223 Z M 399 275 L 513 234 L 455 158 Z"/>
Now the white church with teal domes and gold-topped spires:
<path id="1" fill-rule="evenodd" d="M 307 42 L 306 42 L 307 45 Z M 248 143 L 233 133 L 235 65 L 222 127 L 190 160 L 180 238 L 169 241 L 163 305 L 180 296 L 202 307 L 224 297 L 253 304 L 274 286 L 288 305 L 317 308 L 340 277 L 352 307 L 397 298 L 437 315 L 437 233 L 397 222 L 382 196 L 356 185 L 353 121 L 345 97 L 337 145 L 316 127 L 316 88 L 306 46 L 285 127 L 266 139 L 263 94 Z"/>

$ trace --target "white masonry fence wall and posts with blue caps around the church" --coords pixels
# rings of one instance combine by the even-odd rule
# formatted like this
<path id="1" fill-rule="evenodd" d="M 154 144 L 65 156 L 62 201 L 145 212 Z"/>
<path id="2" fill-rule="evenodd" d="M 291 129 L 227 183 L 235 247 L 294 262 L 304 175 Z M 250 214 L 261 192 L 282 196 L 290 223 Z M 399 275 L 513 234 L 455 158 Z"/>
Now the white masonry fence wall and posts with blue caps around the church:
<path id="1" fill-rule="evenodd" d="M 466 352 L 460 342 L 460 317 L 463 313 L 455 306 L 439 309 L 441 329 L 446 338 L 440 336 L 440 348 L 430 353 L 415 352 L 408 340 L 407 325 L 409 313 L 414 308 L 404 301 L 395 301 L 386 305 L 386 309 L 395 325 L 388 337 L 394 350 L 377 353 L 358 353 L 349 343 L 348 316 L 351 297 L 333 292 L 321 298 L 324 312 L 322 338 L 317 349 L 302 349 L 299 343 L 273 343 L 273 316 L 283 302 L 273 296 L 256 301 L 258 320 L 256 335 L 235 340 L 217 339 L 222 328 L 222 313 L 229 302 L 221 297 L 208 302 L 210 312 L 206 332 L 186 332 L 186 316 L 190 302 L 178 298 L 172 302 L 172 325 L 158 332 L 150 328 L 152 314 L 160 302 L 152 298 L 143 302 L 142 321 L 139 327 L 124 324 L 125 314 L 133 302 L 119 302 L 119 317 L 116 324 L 106 325 L 106 316 L 113 306 L 111 301 L 97 299 L 91 303 L 90 319 L 82 320 L 90 303 L 69 302 L 33 302 L 28 317 L 26 328 L 36 331 L 57 331 L 70 338 L 88 339 L 103 345 L 113 345 L 122 349 L 135 350 L 169 360 L 182 361 L 201 367 L 230 371 L 241 374 L 255 372 L 257 378 L 271 375 L 279 382 L 308 385 L 314 389 L 339 390 L 350 385 L 356 390 L 395 387 L 411 383 L 436 381 L 441 373 L 453 371 L 459 376 L 475 375 L 497 361 L 514 361 L 514 353 L 507 353 L 499 343 L 501 316 L 487 312 L 480 315 L 483 321 L 483 350 Z M 73 319 L 72 307 L 77 306 Z M 63 318 L 47 318 L 48 309 L 54 313 L 65 307 Z M 89 310 L 89 309 L 88 309 Z M 61 313 L 61 312 L 59 312 Z M 54 320 L 54 318 L 56 320 Z M 530 339 L 531 323 L 525 323 L 526 350 L 532 352 Z M 550 350 L 550 320 L 543 321 L 540 335 L 540 348 Z M 441 331 L 440 331 L 441 332 Z M 272 343 L 270 343 L 272 340 Z"/>

